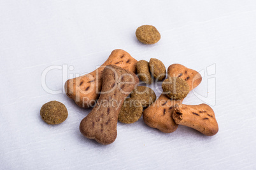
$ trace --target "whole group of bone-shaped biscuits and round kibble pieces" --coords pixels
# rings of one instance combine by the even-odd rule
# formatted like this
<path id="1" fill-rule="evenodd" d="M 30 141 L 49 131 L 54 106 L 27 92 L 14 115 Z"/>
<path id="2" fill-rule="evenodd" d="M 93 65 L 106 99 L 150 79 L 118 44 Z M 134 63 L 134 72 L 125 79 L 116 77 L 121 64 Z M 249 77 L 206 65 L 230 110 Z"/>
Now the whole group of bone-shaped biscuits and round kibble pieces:
<path id="1" fill-rule="evenodd" d="M 153 44 L 159 41 L 160 34 L 149 26 L 139 27 L 136 36 L 143 43 Z M 155 36 L 148 36 L 147 31 Z M 139 80 L 146 84 L 163 81 L 163 93 L 156 98 L 153 89 L 138 86 Z M 131 124 L 141 115 L 145 124 L 163 133 L 172 133 L 178 125 L 183 125 L 207 136 L 216 134 L 218 123 L 210 106 L 182 104 L 201 81 L 196 70 L 183 65 L 172 64 L 166 72 L 164 63 L 156 58 L 137 61 L 126 51 L 115 49 L 98 69 L 66 81 L 65 91 L 78 106 L 94 107 L 81 121 L 80 131 L 83 136 L 106 145 L 117 138 L 118 121 Z M 66 107 L 56 103 L 50 101 L 41 108 L 41 117 L 48 124 L 59 124 L 68 117 Z M 51 115 L 50 110 L 55 112 Z"/>

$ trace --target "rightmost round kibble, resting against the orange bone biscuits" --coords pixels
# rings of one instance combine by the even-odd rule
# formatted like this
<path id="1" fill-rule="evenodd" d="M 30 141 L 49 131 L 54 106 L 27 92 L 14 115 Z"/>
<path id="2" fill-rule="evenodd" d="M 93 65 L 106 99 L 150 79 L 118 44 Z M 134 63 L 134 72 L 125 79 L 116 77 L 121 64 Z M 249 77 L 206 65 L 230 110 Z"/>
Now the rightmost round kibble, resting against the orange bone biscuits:
<path id="1" fill-rule="evenodd" d="M 182 100 L 189 93 L 188 83 L 180 77 L 169 77 L 162 82 L 165 95 L 173 100 Z"/>

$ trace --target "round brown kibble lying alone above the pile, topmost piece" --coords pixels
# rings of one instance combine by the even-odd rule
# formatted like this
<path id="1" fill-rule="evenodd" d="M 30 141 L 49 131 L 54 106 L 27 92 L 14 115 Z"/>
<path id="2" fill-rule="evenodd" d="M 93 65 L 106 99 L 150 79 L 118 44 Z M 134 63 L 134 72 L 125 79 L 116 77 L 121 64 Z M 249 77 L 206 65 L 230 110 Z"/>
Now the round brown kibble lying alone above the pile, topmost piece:
<path id="1" fill-rule="evenodd" d="M 155 44 L 161 36 L 158 30 L 152 25 L 142 25 L 136 30 L 136 37 L 144 44 Z"/>

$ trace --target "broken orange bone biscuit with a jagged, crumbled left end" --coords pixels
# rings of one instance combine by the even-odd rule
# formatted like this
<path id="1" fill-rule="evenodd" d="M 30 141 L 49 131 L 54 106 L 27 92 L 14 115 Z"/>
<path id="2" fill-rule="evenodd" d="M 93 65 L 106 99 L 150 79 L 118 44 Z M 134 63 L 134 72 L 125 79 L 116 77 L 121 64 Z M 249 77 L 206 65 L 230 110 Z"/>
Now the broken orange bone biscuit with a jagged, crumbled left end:
<path id="1" fill-rule="evenodd" d="M 196 129 L 207 136 L 213 136 L 218 132 L 213 109 L 206 104 L 194 106 L 176 104 L 173 119 L 176 124 Z"/>

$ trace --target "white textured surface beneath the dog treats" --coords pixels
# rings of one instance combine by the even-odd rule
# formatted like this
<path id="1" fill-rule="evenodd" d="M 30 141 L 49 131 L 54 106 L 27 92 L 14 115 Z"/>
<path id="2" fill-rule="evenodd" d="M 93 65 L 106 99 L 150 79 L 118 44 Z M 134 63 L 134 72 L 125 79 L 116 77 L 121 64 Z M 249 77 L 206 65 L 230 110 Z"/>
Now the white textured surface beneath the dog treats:
<path id="1" fill-rule="evenodd" d="M 144 24 L 159 30 L 157 44 L 137 41 Z M 180 126 L 164 134 L 139 119 L 118 123 L 111 145 L 84 138 L 78 126 L 90 109 L 47 93 L 41 74 L 51 65 L 91 72 L 117 48 L 166 67 L 215 65 L 216 74 L 196 88 L 211 95 L 202 101 L 190 93 L 184 103 L 213 103 L 219 132 L 209 137 Z M 0 169 L 256 169 L 255 57 L 256 1 L 1 0 Z M 209 77 L 216 86 L 207 93 Z M 62 90 L 63 81 L 62 70 L 46 75 L 50 89 Z M 60 125 L 41 120 L 50 100 L 68 108 Z"/>

